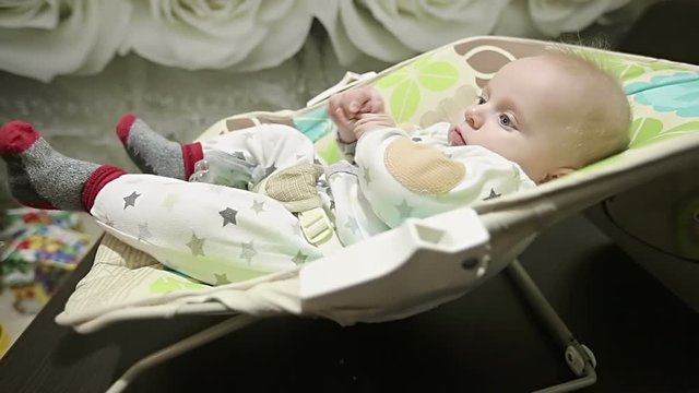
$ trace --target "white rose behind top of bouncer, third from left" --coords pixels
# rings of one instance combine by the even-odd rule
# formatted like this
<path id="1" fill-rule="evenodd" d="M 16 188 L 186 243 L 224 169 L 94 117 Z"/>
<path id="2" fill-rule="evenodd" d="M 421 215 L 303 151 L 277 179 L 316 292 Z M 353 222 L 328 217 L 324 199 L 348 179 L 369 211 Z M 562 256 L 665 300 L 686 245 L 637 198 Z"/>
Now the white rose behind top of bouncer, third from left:
<path id="1" fill-rule="evenodd" d="M 490 33 L 509 0 L 334 0 L 316 11 L 342 63 L 358 51 L 395 62 Z M 347 46 L 352 46 L 347 48 Z"/>

